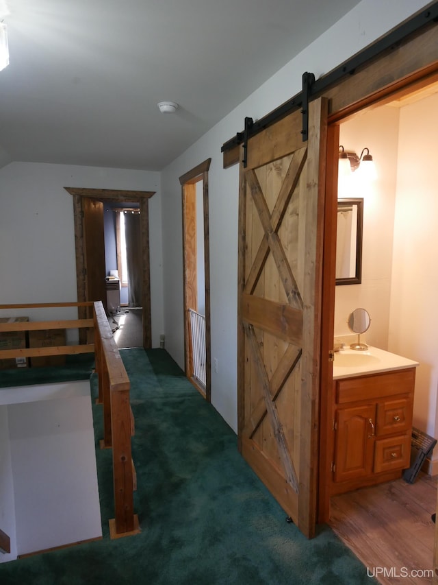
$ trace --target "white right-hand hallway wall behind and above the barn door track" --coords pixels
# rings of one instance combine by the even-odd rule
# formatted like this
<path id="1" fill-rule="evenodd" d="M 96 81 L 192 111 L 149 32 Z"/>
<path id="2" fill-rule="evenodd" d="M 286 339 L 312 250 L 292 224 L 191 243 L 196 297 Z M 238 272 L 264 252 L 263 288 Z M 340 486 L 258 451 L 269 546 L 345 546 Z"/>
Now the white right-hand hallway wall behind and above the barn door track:
<path id="1" fill-rule="evenodd" d="M 336 25 L 179 156 L 162 173 L 164 322 L 166 348 L 183 367 L 183 268 L 179 176 L 211 157 L 209 228 L 211 269 L 211 401 L 237 430 L 237 165 L 222 169 L 220 147 L 244 128 L 301 90 L 302 73 L 328 73 L 426 5 L 422 0 L 363 0 Z M 341 39 L 341 40 L 339 40 Z M 253 64 L 257 67 L 257 64 Z M 232 88 L 230 88 L 232 91 Z"/>

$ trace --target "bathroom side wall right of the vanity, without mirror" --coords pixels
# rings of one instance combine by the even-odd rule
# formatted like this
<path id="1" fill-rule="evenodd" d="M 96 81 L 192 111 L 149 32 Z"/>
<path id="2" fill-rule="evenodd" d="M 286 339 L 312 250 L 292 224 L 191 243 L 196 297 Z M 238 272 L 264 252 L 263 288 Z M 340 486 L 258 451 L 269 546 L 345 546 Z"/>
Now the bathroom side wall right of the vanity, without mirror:
<path id="1" fill-rule="evenodd" d="M 437 136 L 437 94 L 402 108 L 389 329 L 391 351 L 420 362 L 413 422 L 434 437 L 438 434 Z"/>

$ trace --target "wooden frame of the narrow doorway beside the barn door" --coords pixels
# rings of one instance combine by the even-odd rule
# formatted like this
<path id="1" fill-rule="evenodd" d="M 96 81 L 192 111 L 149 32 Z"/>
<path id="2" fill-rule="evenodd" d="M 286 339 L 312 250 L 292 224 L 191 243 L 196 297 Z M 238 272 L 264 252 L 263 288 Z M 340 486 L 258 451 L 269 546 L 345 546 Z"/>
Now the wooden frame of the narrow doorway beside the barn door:
<path id="1" fill-rule="evenodd" d="M 181 202 L 183 215 L 183 322 L 184 322 L 184 360 L 185 375 L 194 383 L 196 389 L 205 396 L 207 402 L 211 402 L 211 317 L 210 317 L 210 246 L 209 246 L 209 203 L 208 203 L 208 171 L 211 158 L 207 158 L 187 173 L 181 175 L 179 182 L 181 184 Z M 187 195 L 194 195 L 196 183 L 203 181 L 203 219 L 204 219 L 204 272 L 205 272 L 205 394 L 203 388 L 196 384 L 192 379 L 191 371 L 191 346 L 190 346 L 190 326 L 188 309 L 192 307 L 197 309 L 197 298 L 192 294 L 192 288 L 189 286 L 189 275 L 196 276 L 196 265 L 188 266 L 188 214 L 194 215 L 193 210 L 188 209 Z M 194 197 L 192 197 L 192 200 Z M 194 216 L 196 219 L 196 216 Z M 195 226 L 196 235 L 196 226 Z M 196 307 L 195 307 L 196 305 Z"/>

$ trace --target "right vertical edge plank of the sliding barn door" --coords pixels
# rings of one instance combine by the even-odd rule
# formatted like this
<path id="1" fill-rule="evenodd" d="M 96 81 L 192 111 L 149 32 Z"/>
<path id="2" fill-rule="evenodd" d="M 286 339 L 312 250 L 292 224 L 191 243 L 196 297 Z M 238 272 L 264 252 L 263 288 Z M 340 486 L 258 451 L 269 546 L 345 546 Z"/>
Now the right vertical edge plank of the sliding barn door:
<path id="1" fill-rule="evenodd" d="M 309 140 L 305 187 L 302 331 L 302 382 L 300 390 L 300 515 L 298 525 L 308 536 L 315 534 L 318 478 L 319 367 L 322 307 L 322 249 L 328 103 L 309 104 Z"/>

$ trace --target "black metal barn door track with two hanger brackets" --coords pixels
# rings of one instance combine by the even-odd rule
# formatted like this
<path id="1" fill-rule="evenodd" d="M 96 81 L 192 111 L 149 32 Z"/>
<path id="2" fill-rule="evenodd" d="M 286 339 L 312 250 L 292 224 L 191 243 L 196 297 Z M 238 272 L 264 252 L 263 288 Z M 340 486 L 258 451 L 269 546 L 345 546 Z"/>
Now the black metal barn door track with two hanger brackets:
<path id="1" fill-rule="evenodd" d="M 245 118 L 245 130 L 243 132 L 237 132 L 232 139 L 224 143 L 221 152 L 226 152 L 244 143 L 244 166 L 246 166 L 248 139 L 299 108 L 301 108 L 302 112 L 302 140 L 307 141 L 308 111 L 311 99 L 322 95 L 324 91 L 337 84 L 343 77 L 353 75 L 358 67 L 363 66 L 382 53 L 394 51 L 410 36 L 420 32 L 424 27 L 431 26 L 437 22 L 438 2 L 433 2 L 427 8 L 424 8 L 424 10 L 398 25 L 398 27 L 391 30 L 388 34 L 376 40 L 372 45 L 365 47 L 365 49 L 359 51 L 355 56 L 320 77 L 320 79 L 315 80 L 313 73 L 304 73 L 302 75 L 302 91 L 300 93 L 297 93 L 294 97 L 287 100 L 287 102 L 281 104 L 281 106 L 255 122 L 252 118 Z"/>

